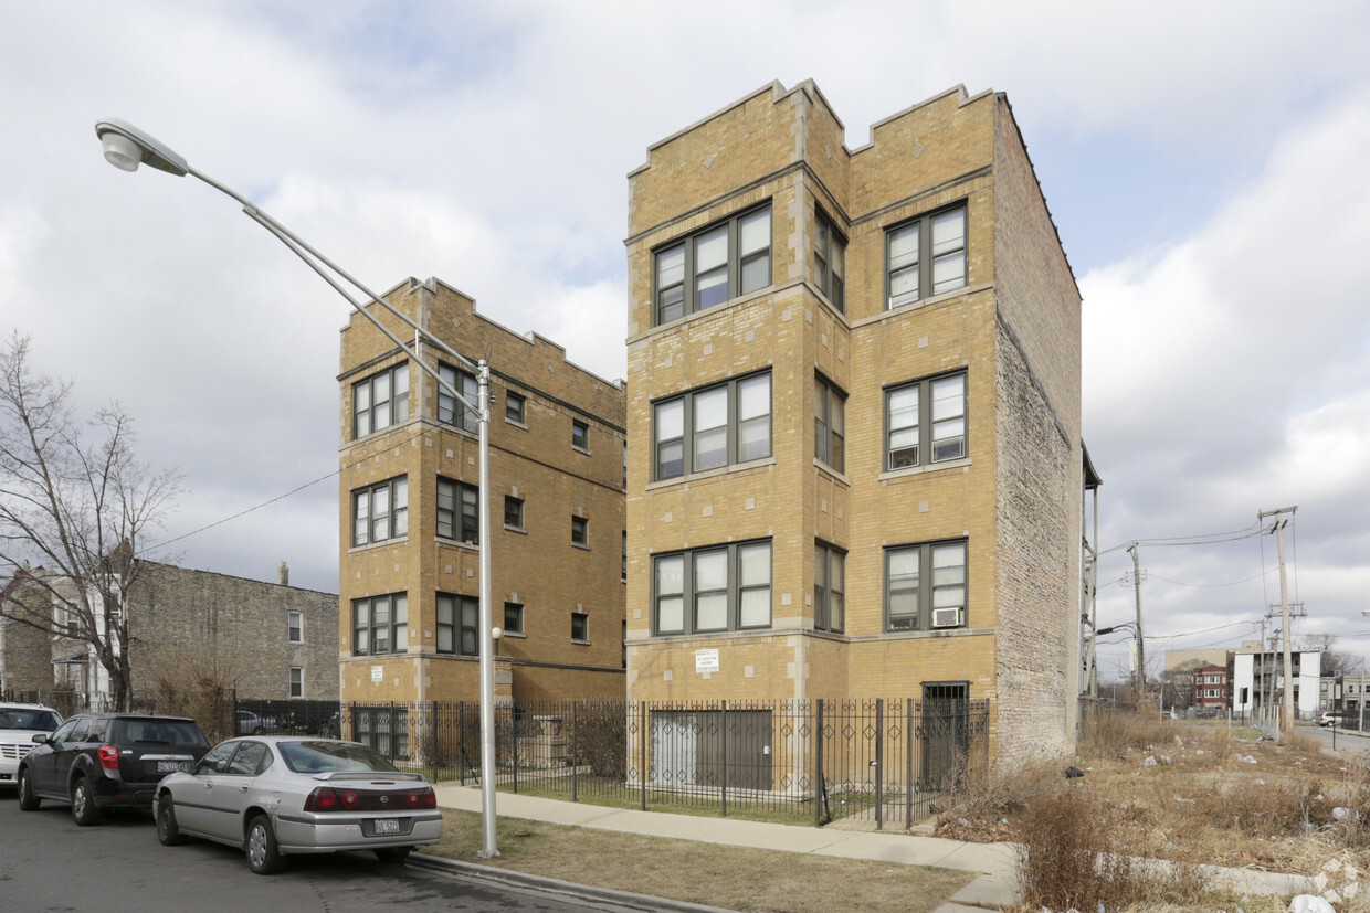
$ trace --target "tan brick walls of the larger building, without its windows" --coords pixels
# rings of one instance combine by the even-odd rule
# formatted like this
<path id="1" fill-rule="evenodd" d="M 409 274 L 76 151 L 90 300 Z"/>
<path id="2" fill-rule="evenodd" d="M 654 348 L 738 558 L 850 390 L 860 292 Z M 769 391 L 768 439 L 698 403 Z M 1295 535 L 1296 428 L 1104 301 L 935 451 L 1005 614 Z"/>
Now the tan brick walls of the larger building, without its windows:
<path id="1" fill-rule="evenodd" d="M 812 82 L 773 83 L 652 145 L 629 175 L 629 697 L 959 693 L 992 701 L 999 756 L 1063 753 L 1082 483 L 1070 267 L 1004 96 L 952 89 L 855 151 L 843 136 Z M 656 257 L 764 205 L 770 283 L 663 319 Z M 889 230 L 949 207 L 964 207 L 964 282 L 888 307 Z M 847 242 L 841 307 L 822 289 L 821 220 Z M 770 376 L 769 456 L 662 478 L 653 409 L 756 372 Z M 891 470 L 888 391 L 954 372 L 966 454 Z M 815 456 L 815 376 L 847 397 L 840 470 Z M 658 630 L 655 561 L 752 541 L 771 548 L 767 626 Z M 960 623 L 893 630 L 891 549 L 945 542 L 964 542 Z M 845 554 L 840 631 L 815 624 L 815 545 Z"/>

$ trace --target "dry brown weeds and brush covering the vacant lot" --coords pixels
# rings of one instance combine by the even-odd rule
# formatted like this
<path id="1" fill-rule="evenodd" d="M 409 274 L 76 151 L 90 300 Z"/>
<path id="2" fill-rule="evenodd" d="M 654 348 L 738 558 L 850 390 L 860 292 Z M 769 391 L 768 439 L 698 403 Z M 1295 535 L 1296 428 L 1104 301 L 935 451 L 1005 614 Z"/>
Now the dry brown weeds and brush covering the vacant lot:
<path id="1" fill-rule="evenodd" d="M 1067 765 L 1084 776 L 1066 777 Z M 971 786 L 941 812 L 937 832 L 1018 842 L 1033 909 L 1185 909 L 1201 895 L 1189 864 L 1322 875 L 1338 909 L 1370 909 L 1359 895 L 1370 772 L 1306 734 L 1277 743 L 1225 721 L 1100 715 L 1075 758 Z M 1175 865 L 1138 872 L 1121 857 Z"/>

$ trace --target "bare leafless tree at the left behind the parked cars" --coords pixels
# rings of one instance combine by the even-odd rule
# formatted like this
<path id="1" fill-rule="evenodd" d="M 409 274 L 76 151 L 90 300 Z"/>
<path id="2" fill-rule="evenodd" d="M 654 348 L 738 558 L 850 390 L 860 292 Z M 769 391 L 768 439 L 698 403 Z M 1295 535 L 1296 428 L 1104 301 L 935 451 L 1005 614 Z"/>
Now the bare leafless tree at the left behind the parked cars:
<path id="1" fill-rule="evenodd" d="M 29 337 L 0 350 L 0 615 L 88 645 L 129 709 L 127 594 L 145 534 L 181 494 L 179 475 L 133 456 L 133 419 L 118 402 L 79 420 L 71 383 L 34 375 Z"/>

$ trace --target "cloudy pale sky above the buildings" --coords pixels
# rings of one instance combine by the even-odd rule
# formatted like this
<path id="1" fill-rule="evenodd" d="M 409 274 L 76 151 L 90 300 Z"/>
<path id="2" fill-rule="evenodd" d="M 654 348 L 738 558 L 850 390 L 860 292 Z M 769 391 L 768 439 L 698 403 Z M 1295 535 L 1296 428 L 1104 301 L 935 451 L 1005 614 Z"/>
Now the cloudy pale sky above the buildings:
<path id="1" fill-rule="evenodd" d="M 1259 635 L 1280 582 L 1256 513 L 1297 505 L 1296 639 L 1366 656 L 1367 44 L 1349 0 L 0 0 L 0 330 L 185 474 L 163 556 L 336 591 L 347 303 L 206 185 L 111 168 L 97 119 L 371 287 L 436 275 L 612 379 L 649 144 L 771 81 L 812 78 L 849 148 L 995 89 L 1085 298 L 1100 624 L 1133 617 L 1136 541 L 1148 656 Z M 1100 657 L 1117 675 L 1126 643 Z"/>

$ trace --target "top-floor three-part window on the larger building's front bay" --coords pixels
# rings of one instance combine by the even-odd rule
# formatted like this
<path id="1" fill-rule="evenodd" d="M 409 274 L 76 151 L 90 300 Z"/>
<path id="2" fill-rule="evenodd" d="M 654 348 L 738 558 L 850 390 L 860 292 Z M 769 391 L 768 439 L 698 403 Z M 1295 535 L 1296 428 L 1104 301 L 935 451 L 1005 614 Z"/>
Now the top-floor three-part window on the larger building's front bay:
<path id="1" fill-rule="evenodd" d="M 770 205 L 656 252 L 656 323 L 670 323 L 770 285 Z"/>

